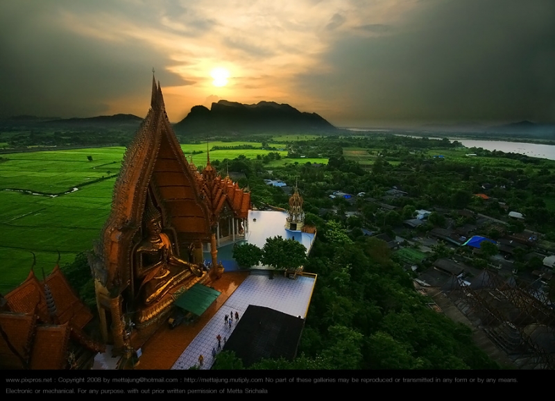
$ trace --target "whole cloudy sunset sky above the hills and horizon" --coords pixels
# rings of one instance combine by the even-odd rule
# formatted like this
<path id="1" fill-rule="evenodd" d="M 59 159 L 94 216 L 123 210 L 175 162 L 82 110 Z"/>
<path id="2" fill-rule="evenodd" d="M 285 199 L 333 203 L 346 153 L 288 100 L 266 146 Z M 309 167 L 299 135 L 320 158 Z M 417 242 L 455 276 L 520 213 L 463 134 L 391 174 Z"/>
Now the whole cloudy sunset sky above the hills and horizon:
<path id="1" fill-rule="evenodd" d="M 289 103 L 336 126 L 555 122 L 553 0 L 2 0 L 0 115 Z M 214 86 L 214 69 L 228 71 Z"/>

